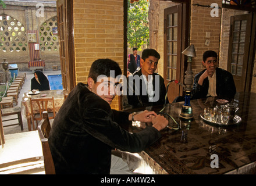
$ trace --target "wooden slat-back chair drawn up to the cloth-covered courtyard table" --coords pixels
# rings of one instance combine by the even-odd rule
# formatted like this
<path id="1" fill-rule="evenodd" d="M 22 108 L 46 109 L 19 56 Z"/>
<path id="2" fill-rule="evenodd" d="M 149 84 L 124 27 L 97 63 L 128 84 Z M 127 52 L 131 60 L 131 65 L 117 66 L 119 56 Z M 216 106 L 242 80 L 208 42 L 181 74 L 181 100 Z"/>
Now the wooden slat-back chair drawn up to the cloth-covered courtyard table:
<path id="1" fill-rule="evenodd" d="M 48 103 L 52 102 L 51 108 L 49 108 Z M 54 105 L 54 96 L 52 98 L 30 98 L 30 109 L 31 109 L 31 119 L 33 123 L 33 130 L 35 130 L 34 121 L 37 122 L 42 120 L 42 112 L 47 111 L 49 119 L 54 119 L 56 112 L 55 112 L 55 105 Z"/>

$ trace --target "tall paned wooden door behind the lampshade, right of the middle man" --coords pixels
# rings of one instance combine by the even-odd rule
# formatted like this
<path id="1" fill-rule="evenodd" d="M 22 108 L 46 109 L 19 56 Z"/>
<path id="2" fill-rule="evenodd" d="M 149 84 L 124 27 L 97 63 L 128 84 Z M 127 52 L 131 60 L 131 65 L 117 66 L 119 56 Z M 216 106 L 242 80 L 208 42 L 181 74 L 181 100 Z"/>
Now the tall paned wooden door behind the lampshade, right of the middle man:
<path id="1" fill-rule="evenodd" d="M 172 6 L 164 10 L 164 71 L 165 85 L 170 80 L 180 81 L 182 79 L 182 4 Z M 180 94 L 180 86 L 170 83 L 168 88 L 169 102 L 172 102 Z"/>

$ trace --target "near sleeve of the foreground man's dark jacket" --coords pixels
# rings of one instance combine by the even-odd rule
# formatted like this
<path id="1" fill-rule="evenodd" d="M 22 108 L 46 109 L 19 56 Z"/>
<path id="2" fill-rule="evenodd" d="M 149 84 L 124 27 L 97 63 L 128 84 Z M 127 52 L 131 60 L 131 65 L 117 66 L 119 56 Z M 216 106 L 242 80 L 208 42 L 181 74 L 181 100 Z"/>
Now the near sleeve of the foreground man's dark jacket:
<path id="1" fill-rule="evenodd" d="M 161 133 L 151 126 L 138 133 L 130 134 L 115 122 L 113 112 L 107 108 L 108 106 L 104 106 L 105 104 L 103 102 L 94 103 L 83 113 L 83 120 L 86 123 L 83 125 L 83 130 L 98 140 L 112 148 L 134 153 L 143 151 L 161 137 Z M 127 115 L 127 113 L 122 114 Z"/>

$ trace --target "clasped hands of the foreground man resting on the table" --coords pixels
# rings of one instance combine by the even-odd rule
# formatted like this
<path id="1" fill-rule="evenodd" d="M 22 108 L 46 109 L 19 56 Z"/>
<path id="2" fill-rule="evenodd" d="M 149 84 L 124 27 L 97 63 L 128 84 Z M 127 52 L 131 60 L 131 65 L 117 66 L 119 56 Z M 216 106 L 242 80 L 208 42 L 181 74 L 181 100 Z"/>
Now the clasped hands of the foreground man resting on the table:
<path id="1" fill-rule="evenodd" d="M 134 115 L 134 120 L 141 121 L 141 124 L 152 123 L 152 127 L 157 128 L 158 131 L 162 130 L 168 125 L 168 120 L 161 116 L 157 115 L 154 111 L 144 110 L 143 112 Z"/>

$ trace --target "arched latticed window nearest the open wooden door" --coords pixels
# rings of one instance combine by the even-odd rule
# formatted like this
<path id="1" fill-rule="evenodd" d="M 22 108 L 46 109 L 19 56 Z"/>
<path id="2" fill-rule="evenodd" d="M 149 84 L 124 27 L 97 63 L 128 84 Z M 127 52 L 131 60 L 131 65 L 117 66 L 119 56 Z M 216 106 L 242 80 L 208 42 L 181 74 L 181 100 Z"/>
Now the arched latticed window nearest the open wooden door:
<path id="1" fill-rule="evenodd" d="M 42 23 L 39 38 L 41 51 L 57 51 L 59 49 L 57 16 Z"/>

